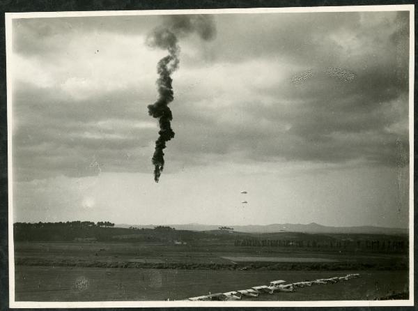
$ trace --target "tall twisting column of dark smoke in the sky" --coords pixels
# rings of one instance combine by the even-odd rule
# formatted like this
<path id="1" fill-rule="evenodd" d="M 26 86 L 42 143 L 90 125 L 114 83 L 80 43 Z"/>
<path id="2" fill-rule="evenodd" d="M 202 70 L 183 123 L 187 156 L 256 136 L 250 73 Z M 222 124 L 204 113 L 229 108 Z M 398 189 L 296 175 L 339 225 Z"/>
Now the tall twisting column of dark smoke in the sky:
<path id="1" fill-rule="evenodd" d="M 210 15 L 169 15 L 164 17 L 162 26 L 154 29 L 146 38 L 150 47 L 159 47 L 167 50 L 169 54 L 164 56 L 157 63 L 157 91 L 158 98 L 153 105 L 148 105 L 150 116 L 158 119 L 160 123 L 160 137 L 155 141 L 155 152 L 153 155 L 154 180 L 157 183 L 164 169 L 164 152 L 166 142 L 174 137 L 171 128 L 173 114 L 169 103 L 174 100 L 174 92 L 171 74 L 178 68 L 180 59 L 180 47 L 178 37 L 196 33 L 203 40 L 211 40 L 215 36 L 215 24 Z"/>

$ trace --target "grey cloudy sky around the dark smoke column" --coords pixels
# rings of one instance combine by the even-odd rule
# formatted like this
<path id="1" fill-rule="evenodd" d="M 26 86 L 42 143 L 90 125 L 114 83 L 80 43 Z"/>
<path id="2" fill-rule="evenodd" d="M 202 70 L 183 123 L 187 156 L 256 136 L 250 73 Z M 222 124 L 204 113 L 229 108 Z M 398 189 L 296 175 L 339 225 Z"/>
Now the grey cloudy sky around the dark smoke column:
<path id="1" fill-rule="evenodd" d="M 14 220 L 407 227 L 408 16 L 224 14 L 211 40 L 178 33 L 159 183 L 147 105 L 167 51 L 146 38 L 167 17 L 13 20 Z"/>

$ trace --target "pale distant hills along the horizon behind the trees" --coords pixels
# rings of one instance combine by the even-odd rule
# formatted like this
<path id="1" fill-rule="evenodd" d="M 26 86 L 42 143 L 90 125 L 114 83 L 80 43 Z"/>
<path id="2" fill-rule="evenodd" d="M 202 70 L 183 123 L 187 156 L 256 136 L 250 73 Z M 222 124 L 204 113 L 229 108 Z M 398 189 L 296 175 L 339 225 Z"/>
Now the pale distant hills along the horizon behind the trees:
<path id="1" fill-rule="evenodd" d="M 153 228 L 156 225 L 115 225 L 115 227 L 138 227 Z M 197 223 L 185 225 L 169 225 L 177 230 L 192 230 L 192 231 L 210 231 L 217 230 L 220 225 L 201 225 Z M 245 225 L 233 226 L 235 232 L 248 233 L 272 233 L 272 232 L 304 232 L 309 234 L 408 234 L 408 229 L 405 228 L 387 228 L 387 227 L 373 227 L 373 226 L 359 226 L 359 227 L 331 227 L 318 225 L 316 222 L 311 222 L 307 225 L 302 224 L 272 224 L 272 225 Z"/>

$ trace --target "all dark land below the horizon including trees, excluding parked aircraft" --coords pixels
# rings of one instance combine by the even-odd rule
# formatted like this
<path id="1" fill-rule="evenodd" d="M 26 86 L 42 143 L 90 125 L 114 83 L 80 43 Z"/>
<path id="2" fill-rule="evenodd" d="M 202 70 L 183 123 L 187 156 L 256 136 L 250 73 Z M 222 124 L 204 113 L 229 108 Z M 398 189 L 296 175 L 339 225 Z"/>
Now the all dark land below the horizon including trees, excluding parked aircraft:
<path id="1" fill-rule="evenodd" d="M 408 296 L 407 236 L 121 228 L 76 229 L 62 236 L 65 231 L 46 227 L 26 228 L 24 234 L 16 230 L 16 301 L 173 301 L 268 285 L 272 280 L 300 282 L 348 273 L 361 278 L 243 300 Z M 45 236 L 54 241 L 29 241 Z M 242 241 L 286 242 L 242 245 Z"/>

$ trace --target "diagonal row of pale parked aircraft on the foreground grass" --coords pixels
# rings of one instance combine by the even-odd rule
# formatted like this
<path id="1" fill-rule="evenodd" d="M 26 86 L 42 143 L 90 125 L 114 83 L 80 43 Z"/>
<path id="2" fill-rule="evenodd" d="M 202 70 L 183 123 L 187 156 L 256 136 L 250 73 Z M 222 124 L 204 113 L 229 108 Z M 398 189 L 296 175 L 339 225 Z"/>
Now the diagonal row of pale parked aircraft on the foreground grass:
<path id="1" fill-rule="evenodd" d="M 332 284 L 339 281 L 347 281 L 353 278 L 359 278 L 359 273 L 348 274 L 345 276 L 318 279 L 314 281 L 295 282 L 283 284 L 286 281 L 276 280 L 270 282 L 270 285 L 261 285 L 251 287 L 251 289 L 242 289 L 239 291 L 227 291 L 226 293 L 210 294 L 206 296 L 198 296 L 186 299 L 187 301 L 238 301 L 244 297 L 258 297 L 259 294 L 274 294 L 277 291 L 295 291 L 297 287 L 307 287 L 320 284 Z"/>

